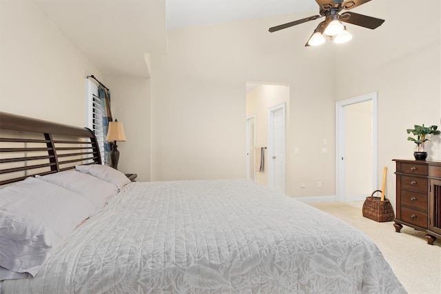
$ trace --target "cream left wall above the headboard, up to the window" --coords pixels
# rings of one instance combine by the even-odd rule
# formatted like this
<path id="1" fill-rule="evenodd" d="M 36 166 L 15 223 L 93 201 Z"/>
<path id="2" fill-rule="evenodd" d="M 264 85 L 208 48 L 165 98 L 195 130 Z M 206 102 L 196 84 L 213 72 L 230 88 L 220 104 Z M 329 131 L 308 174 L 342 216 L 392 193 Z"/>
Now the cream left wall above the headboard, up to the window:
<path id="1" fill-rule="evenodd" d="M 85 126 L 84 79 L 101 72 L 33 1 L 0 1 L 0 110 Z"/>

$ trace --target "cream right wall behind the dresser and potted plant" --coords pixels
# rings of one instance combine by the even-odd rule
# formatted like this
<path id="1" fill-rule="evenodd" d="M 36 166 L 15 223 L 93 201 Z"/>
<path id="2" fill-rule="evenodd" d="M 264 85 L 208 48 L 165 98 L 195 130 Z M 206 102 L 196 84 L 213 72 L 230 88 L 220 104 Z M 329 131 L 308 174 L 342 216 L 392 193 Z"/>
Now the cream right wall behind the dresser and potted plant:
<path id="1" fill-rule="evenodd" d="M 413 159 L 406 129 L 440 126 L 440 1 L 426 1 L 424 17 L 414 21 L 403 19 L 415 15 L 410 0 L 400 1 L 399 9 L 392 0 L 368 4 L 357 12 L 386 21 L 374 31 L 351 26 L 352 41 L 337 52 L 336 99 L 378 91 L 378 182 L 387 166 L 386 195 L 395 203 L 391 160 Z M 440 160 L 440 136 L 432 143 L 429 159 Z"/>

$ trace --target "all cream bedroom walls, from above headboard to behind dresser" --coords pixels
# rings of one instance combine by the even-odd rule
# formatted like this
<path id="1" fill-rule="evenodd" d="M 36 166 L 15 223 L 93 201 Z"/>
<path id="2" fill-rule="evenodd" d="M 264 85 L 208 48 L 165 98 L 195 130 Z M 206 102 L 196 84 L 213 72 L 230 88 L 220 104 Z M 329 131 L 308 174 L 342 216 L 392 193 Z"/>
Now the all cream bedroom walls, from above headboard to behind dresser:
<path id="1" fill-rule="evenodd" d="M 389 167 L 387 195 L 393 199 L 391 159 L 413 152 L 406 128 L 439 125 L 441 112 L 440 1 L 427 0 L 431 9 L 417 21 L 403 21 L 403 15 L 414 15 L 414 3 L 400 3 L 400 13 L 395 0 L 357 8 L 386 22 L 373 31 L 348 25 L 353 40 L 344 46 L 303 47 L 314 22 L 267 32 L 309 14 L 169 30 L 167 55 L 151 57 L 151 166 L 148 147 L 143 159 L 124 159 L 131 153 L 125 148 L 149 145 L 145 130 L 145 137 L 120 144 L 121 167 L 143 179 L 245 177 L 245 85 L 273 82 L 290 88 L 288 137 L 300 150 L 287 150 L 287 182 L 307 184 L 294 185 L 289 195 L 335 195 L 334 103 L 378 92 L 378 166 Z M 127 121 L 127 133 L 147 112 L 148 81 L 104 79 L 32 1 L 1 1 L 0 33 L 2 111 L 83 126 L 83 79 L 94 74 L 112 90 L 114 113 Z M 125 101 L 118 92 L 132 86 L 137 94 Z M 146 129 L 147 121 L 143 117 Z M 441 159 L 440 146 L 437 137 L 431 159 Z M 322 188 L 313 189 L 318 180 Z"/>

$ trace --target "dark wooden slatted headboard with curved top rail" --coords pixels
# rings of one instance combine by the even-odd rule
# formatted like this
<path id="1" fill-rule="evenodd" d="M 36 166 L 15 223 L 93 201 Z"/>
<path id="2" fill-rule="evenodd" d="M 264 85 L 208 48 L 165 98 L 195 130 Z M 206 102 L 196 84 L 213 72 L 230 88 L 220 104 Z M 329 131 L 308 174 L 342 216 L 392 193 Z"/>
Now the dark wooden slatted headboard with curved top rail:
<path id="1" fill-rule="evenodd" d="M 92 130 L 0 112 L 0 185 L 79 164 L 101 164 Z"/>

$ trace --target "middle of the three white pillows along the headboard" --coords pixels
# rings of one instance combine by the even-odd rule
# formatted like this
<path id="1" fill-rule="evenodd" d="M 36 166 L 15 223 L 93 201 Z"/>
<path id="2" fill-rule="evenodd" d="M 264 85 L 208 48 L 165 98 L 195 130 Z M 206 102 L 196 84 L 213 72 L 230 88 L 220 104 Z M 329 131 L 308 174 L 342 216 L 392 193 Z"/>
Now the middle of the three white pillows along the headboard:
<path id="1" fill-rule="evenodd" d="M 96 212 L 101 210 L 104 204 L 118 193 L 118 189 L 114 185 L 92 175 L 79 173 L 76 170 L 65 170 L 60 173 L 44 176 L 36 175 L 35 177 L 83 195 L 96 204 L 98 208 Z"/>

